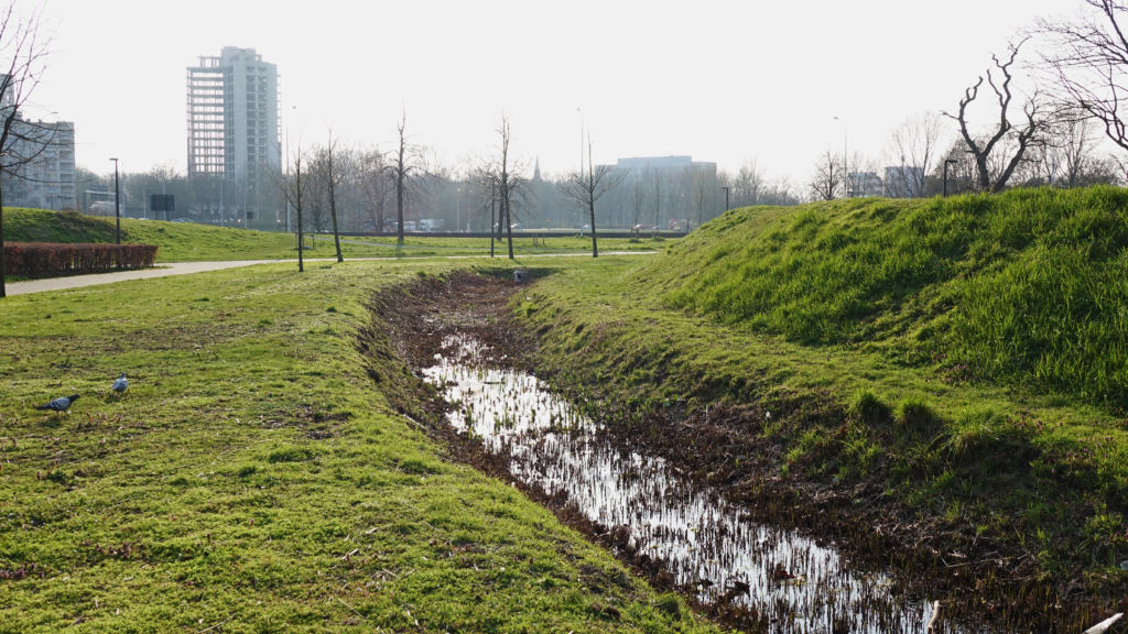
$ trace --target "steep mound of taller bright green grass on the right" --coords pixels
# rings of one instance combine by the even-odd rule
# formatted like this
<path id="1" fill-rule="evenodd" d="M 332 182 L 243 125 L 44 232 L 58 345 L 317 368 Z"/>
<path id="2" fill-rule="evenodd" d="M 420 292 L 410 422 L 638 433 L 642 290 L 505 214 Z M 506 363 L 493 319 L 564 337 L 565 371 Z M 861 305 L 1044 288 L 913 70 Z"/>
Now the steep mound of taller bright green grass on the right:
<path id="1" fill-rule="evenodd" d="M 1117 187 L 853 200 L 729 212 L 643 276 L 670 306 L 738 327 L 1120 408 L 1126 246 Z"/>

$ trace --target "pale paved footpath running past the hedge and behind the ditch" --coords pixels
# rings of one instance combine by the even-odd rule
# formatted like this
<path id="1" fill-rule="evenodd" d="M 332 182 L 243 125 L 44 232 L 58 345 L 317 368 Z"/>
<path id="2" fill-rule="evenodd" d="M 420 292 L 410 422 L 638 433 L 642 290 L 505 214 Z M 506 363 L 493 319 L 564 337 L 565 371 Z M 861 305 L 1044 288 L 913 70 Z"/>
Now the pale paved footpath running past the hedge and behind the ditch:
<path id="1" fill-rule="evenodd" d="M 656 252 L 603 252 L 599 255 L 652 255 Z M 552 253 L 522 255 L 520 257 L 579 257 L 589 255 L 587 253 Z M 482 255 L 448 255 L 433 257 L 350 257 L 346 262 L 369 262 L 369 261 L 413 261 L 413 259 L 469 259 L 488 256 Z M 590 256 L 589 256 L 590 257 Z M 500 259 L 500 258 L 495 258 Z M 239 266 L 254 266 L 256 264 L 284 264 L 297 263 L 297 259 L 233 259 L 230 262 L 174 262 L 158 264 L 160 268 L 144 268 L 141 271 L 122 271 L 121 273 L 99 273 L 96 275 L 74 275 L 71 278 L 51 278 L 49 280 L 34 280 L 32 282 L 10 282 L 7 292 L 10 296 L 38 293 L 43 291 L 64 291 L 67 289 L 78 289 L 92 287 L 96 284 L 112 284 L 126 280 L 148 280 L 150 278 L 166 278 L 168 275 L 187 275 L 188 273 L 203 273 L 206 271 L 221 271 L 223 268 L 237 268 Z M 306 262 L 336 262 L 336 258 L 307 258 Z"/>

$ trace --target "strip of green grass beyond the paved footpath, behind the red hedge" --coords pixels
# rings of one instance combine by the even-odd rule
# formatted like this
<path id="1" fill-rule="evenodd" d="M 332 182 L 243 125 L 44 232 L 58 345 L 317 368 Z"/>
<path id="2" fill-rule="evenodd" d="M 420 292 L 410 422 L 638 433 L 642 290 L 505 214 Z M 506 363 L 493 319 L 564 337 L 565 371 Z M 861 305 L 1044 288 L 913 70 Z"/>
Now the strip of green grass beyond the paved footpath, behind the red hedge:
<path id="1" fill-rule="evenodd" d="M 32 209 L 6 209 L 3 214 L 5 239 L 42 243 L 112 243 L 115 238 L 114 219 L 56 213 Z M 309 234 L 307 257 L 334 257 L 333 236 Z M 315 239 L 316 237 L 316 239 Z M 194 222 L 160 222 L 155 220 L 122 220 L 122 240 L 159 246 L 157 262 L 212 262 L 229 259 L 291 259 L 298 257 L 292 235 L 268 231 L 248 231 L 196 224 Z M 377 244 L 378 243 L 378 244 Z M 669 244 L 666 240 L 625 239 L 600 240 L 606 250 L 654 250 Z M 504 243 L 496 244 L 497 254 L 505 253 Z M 522 255 L 547 253 L 582 253 L 591 248 L 591 240 L 574 236 L 550 238 L 547 246 L 534 245 L 532 238 L 513 240 L 514 253 Z M 422 257 L 435 255 L 488 255 L 488 238 L 406 238 L 403 247 L 395 246 L 395 237 L 342 238 L 341 253 L 345 258 L 358 257 Z"/>

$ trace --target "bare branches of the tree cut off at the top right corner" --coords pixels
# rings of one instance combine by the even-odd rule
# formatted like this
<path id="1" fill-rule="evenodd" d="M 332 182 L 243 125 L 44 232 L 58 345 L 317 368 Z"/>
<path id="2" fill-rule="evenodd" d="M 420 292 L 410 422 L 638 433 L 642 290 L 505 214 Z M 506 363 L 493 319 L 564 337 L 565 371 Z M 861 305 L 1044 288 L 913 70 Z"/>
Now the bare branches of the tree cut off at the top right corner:
<path id="1" fill-rule="evenodd" d="M 1083 0 L 1087 12 L 1073 19 L 1040 19 L 1049 37 L 1046 68 L 1057 79 L 1061 100 L 1101 122 L 1104 133 L 1128 150 L 1128 126 L 1121 104 L 1128 98 L 1128 37 L 1120 19 L 1128 6 L 1118 0 Z"/>

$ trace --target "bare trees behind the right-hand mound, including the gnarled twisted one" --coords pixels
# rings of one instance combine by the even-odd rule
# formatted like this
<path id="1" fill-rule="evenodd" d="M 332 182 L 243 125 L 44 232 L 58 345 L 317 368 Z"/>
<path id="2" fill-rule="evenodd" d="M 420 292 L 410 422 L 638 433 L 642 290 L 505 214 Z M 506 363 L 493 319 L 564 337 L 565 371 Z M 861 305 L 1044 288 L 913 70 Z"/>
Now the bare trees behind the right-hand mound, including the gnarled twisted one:
<path id="1" fill-rule="evenodd" d="M 1005 54 L 992 55 L 957 108 L 910 117 L 891 133 L 885 165 L 899 168 L 887 167 L 882 178 L 876 160 L 847 161 L 827 150 L 809 195 L 919 197 L 940 193 L 945 182 L 955 192 L 986 193 L 1128 183 L 1125 159 L 1102 151 L 1109 142 L 1128 150 L 1126 18 L 1121 0 L 1082 0 L 1073 16 L 1039 19 Z M 1024 70 L 1020 55 L 1032 58 Z M 977 124 L 973 111 L 986 123 Z"/>

